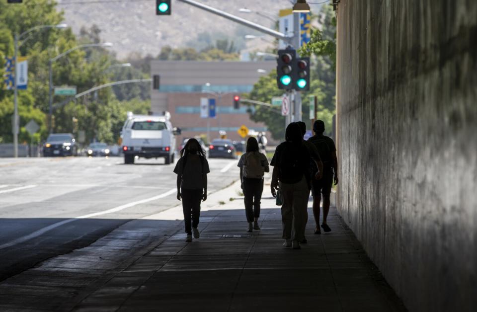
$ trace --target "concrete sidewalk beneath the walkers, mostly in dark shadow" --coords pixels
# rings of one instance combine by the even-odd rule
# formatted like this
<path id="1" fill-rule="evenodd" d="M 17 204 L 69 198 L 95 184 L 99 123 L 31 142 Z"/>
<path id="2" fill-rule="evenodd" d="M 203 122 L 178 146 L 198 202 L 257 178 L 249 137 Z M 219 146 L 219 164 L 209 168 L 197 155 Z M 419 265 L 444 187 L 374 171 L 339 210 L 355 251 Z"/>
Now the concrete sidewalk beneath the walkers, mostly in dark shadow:
<path id="1" fill-rule="evenodd" d="M 181 224 L 94 292 L 79 294 L 82 301 L 68 310 L 405 311 L 336 209 L 328 220 L 332 232 L 321 235 L 313 234 L 309 209 L 309 242 L 292 250 L 282 247 L 280 209 L 269 186 L 261 231 L 253 233 L 245 231 L 243 201 L 230 201 L 238 190 L 236 183 L 203 205 L 199 239 L 186 243 Z M 176 221 L 182 211 L 176 207 L 149 218 Z"/>

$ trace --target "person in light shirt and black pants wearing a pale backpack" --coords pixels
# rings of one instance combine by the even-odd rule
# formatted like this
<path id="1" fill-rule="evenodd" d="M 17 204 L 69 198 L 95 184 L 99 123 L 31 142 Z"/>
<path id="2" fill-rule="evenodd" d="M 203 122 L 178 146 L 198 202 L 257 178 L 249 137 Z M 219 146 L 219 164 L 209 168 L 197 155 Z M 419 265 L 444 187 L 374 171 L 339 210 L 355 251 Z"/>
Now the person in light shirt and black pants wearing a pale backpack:
<path id="1" fill-rule="evenodd" d="M 248 138 L 246 153 L 240 157 L 238 164 L 245 202 L 245 215 L 248 222 L 247 232 L 252 232 L 252 228 L 260 230 L 258 218 L 260 217 L 260 200 L 263 193 L 263 175 L 270 171 L 267 157 L 258 150 L 257 140 L 253 137 Z"/>

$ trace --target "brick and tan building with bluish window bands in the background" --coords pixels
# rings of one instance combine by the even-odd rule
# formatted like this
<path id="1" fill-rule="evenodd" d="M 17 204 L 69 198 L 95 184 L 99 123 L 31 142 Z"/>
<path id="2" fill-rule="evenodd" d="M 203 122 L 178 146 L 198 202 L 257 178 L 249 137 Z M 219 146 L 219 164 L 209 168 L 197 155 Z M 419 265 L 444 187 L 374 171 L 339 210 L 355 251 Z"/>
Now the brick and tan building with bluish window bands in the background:
<path id="1" fill-rule="evenodd" d="M 250 92 L 261 76 L 275 68 L 273 61 L 152 61 L 151 76 L 159 75 L 160 87 L 152 90 L 151 109 L 170 112 L 172 124 L 182 130 L 180 141 L 206 135 L 208 129 L 210 140 L 218 138 L 219 131 L 226 131 L 231 140 L 243 140 L 237 133 L 242 125 L 258 132 L 267 128 L 250 120 L 247 106 L 235 109 L 234 96 Z M 201 118 L 204 97 L 216 99 L 216 118 Z"/>

